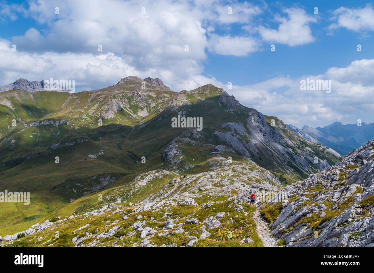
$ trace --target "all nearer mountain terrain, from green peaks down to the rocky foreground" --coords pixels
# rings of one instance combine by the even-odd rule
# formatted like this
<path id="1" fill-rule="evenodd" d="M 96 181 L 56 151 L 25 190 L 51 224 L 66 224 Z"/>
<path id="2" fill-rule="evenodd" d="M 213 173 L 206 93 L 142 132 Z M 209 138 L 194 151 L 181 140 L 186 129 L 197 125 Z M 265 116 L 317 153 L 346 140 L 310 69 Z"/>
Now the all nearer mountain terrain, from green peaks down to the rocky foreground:
<path id="1" fill-rule="evenodd" d="M 10 90 L 0 117 L 1 187 L 30 192 L 0 247 L 373 245 L 373 140 L 342 158 L 211 84 Z"/>

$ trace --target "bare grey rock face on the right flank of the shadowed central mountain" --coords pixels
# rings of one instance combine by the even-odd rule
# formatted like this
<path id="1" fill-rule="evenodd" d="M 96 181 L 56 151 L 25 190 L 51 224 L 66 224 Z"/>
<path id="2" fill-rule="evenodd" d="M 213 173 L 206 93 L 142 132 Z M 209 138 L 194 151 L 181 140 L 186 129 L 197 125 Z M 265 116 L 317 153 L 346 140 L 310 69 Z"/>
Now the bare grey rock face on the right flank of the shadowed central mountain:
<path id="1" fill-rule="evenodd" d="M 227 99 L 227 96 L 225 98 Z M 215 139 L 217 139 L 215 144 L 226 145 L 236 153 L 252 160 L 261 159 L 259 161 L 260 165 L 265 158 L 271 158 L 272 161 L 277 162 L 276 164 L 283 164 L 285 160 L 292 162 L 294 168 L 300 168 L 305 173 L 315 172 L 316 169 L 327 170 L 331 167 L 325 159 L 318 159 L 317 164 L 313 163 L 311 165 L 310 162 L 315 160 L 314 152 L 311 149 L 300 150 L 296 148 L 299 145 L 298 139 L 291 141 L 283 134 L 282 130 L 287 128 L 284 123 L 277 121 L 275 126 L 271 126 L 266 122 L 263 114 L 257 110 L 249 111 L 245 123 L 227 122 L 221 127 L 230 132 L 215 131 L 213 133 Z M 269 153 L 269 148 L 274 154 Z M 329 151 L 325 153 L 329 153 Z"/>

